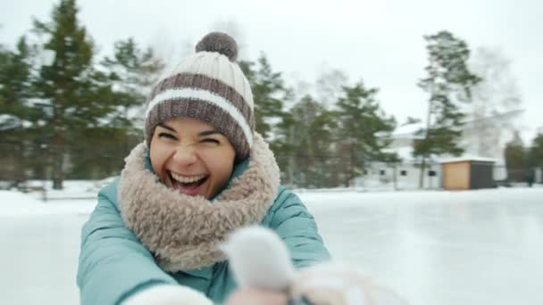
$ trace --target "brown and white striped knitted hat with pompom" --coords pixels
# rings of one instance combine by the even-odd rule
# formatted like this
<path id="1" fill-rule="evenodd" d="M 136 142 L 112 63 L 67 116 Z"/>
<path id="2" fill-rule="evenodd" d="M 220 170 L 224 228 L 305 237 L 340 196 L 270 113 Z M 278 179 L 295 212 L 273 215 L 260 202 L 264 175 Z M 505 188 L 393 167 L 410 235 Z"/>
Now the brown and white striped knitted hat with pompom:
<path id="1" fill-rule="evenodd" d="M 235 62 L 236 41 L 224 33 L 207 34 L 196 54 L 185 58 L 151 91 L 146 109 L 146 143 L 156 125 L 177 117 L 203 120 L 226 136 L 245 160 L 253 144 L 255 114 L 253 93 Z"/>

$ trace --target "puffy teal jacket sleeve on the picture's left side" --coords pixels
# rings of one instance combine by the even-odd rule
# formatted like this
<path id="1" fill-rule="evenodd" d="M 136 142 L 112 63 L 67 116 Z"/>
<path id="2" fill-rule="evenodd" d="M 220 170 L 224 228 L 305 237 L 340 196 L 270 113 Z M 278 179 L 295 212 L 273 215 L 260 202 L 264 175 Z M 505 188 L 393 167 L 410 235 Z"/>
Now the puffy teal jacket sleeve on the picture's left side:
<path id="1" fill-rule="evenodd" d="M 77 283 L 81 304 L 118 304 L 155 284 L 177 284 L 124 226 L 113 203 L 117 183 L 104 187 L 81 232 Z"/>

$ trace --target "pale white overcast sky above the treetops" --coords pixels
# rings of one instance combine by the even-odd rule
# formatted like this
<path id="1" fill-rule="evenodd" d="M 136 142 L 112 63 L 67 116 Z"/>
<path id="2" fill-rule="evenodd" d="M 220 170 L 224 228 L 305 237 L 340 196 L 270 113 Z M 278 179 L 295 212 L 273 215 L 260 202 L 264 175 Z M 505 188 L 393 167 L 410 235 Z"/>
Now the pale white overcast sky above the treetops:
<path id="1" fill-rule="evenodd" d="M 0 43 L 14 45 L 31 17 L 48 21 L 53 0 L 0 0 Z M 525 109 L 522 134 L 543 127 L 543 1 L 539 0 L 79 0 L 79 20 L 101 54 L 134 37 L 163 56 L 187 51 L 213 24 L 238 24 L 243 54 L 267 54 L 290 79 L 313 82 L 322 67 L 345 70 L 352 81 L 379 87 L 379 100 L 399 122 L 424 118 L 425 95 L 416 82 L 426 65 L 423 35 L 441 29 L 472 50 L 498 48 L 512 60 Z"/>

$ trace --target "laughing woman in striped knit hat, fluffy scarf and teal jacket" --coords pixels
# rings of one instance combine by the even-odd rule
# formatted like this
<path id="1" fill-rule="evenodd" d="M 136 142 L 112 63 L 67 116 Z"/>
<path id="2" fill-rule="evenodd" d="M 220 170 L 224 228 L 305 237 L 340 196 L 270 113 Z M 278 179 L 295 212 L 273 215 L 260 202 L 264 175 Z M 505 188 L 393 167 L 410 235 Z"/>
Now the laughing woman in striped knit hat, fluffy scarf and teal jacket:
<path id="1" fill-rule="evenodd" d="M 239 227 L 271 228 L 298 268 L 329 259 L 313 216 L 280 186 L 273 154 L 255 132 L 237 53 L 228 35 L 208 34 L 153 87 L 146 141 L 98 194 L 82 229 L 82 304 L 153 303 L 168 293 L 180 300 L 187 292 L 222 303 L 237 284 L 217 246 Z M 235 299 L 286 300 L 270 294 Z"/>

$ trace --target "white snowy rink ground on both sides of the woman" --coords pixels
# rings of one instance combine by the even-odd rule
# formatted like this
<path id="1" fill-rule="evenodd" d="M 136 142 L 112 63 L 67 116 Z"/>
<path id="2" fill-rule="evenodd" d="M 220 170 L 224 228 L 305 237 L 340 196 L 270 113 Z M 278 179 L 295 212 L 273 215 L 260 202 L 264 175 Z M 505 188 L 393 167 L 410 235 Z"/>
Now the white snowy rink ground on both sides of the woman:
<path id="1" fill-rule="evenodd" d="M 300 196 L 338 260 L 411 304 L 543 304 L 541 187 Z M 0 303 L 77 304 L 79 230 L 96 202 L 37 198 L 0 192 Z"/>

